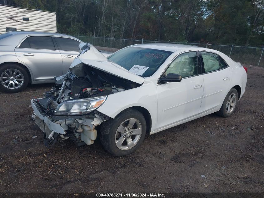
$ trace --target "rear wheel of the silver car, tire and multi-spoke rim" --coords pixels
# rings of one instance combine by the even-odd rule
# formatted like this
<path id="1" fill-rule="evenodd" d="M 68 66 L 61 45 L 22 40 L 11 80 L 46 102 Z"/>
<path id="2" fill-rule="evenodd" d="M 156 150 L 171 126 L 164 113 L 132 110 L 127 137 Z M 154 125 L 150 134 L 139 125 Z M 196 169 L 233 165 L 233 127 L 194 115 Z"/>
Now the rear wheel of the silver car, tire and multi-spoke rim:
<path id="1" fill-rule="evenodd" d="M 17 64 L 7 63 L 0 66 L 0 88 L 6 93 L 17 93 L 27 87 L 28 74 Z"/>

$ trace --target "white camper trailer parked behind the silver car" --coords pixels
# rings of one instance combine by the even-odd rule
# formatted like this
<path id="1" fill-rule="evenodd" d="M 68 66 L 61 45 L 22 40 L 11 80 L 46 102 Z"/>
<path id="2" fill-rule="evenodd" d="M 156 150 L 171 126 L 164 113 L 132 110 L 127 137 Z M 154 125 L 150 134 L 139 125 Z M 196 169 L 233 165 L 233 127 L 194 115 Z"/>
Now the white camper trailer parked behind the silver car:
<path id="1" fill-rule="evenodd" d="M 0 5 L 0 33 L 23 30 L 56 33 L 56 13 Z"/>

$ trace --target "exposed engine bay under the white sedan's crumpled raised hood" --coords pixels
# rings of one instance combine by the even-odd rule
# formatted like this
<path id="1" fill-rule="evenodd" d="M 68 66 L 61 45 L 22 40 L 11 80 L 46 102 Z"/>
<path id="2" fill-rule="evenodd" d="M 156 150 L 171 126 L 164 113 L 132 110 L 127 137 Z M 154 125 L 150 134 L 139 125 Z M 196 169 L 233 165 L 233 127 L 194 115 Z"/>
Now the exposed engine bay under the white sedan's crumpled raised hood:
<path id="1" fill-rule="evenodd" d="M 44 93 L 44 98 L 38 99 L 53 115 L 57 106 L 68 99 L 84 99 L 118 93 L 136 88 L 138 84 L 107 74 L 98 69 L 85 65 L 83 77 L 73 74 L 70 70 L 63 76 L 56 76 L 56 86 Z"/>

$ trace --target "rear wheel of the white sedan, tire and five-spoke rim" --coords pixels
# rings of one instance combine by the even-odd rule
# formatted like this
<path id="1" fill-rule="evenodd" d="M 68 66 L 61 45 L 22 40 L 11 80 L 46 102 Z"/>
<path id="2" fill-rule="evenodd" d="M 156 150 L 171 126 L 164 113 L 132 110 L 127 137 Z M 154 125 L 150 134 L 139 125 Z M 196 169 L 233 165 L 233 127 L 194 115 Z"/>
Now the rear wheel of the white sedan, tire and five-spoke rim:
<path id="1" fill-rule="evenodd" d="M 236 109 L 237 107 L 237 101 L 238 101 L 238 93 L 237 93 L 237 89 L 235 88 L 232 88 L 223 104 L 222 104 L 222 107 L 221 109 L 217 112 L 218 115 L 222 116 L 222 117 L 229 117 L 233 112 L 234 110 Z"/>

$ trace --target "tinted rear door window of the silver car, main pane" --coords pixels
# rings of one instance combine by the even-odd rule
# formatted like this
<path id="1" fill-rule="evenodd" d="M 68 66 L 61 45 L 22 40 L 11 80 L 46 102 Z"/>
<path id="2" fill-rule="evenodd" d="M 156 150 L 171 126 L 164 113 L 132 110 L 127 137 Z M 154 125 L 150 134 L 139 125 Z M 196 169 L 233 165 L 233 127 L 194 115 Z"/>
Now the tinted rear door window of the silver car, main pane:
<path id="1" fill-rule="evenodd" d="M 31 36 L 31 37 L 28 37 L 27 39 L 28 39 L 30 48 L 32 49 L 55 50 L 54 43 L 50 36 Z"/>

